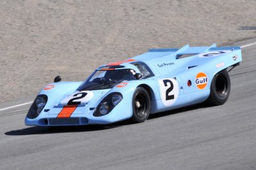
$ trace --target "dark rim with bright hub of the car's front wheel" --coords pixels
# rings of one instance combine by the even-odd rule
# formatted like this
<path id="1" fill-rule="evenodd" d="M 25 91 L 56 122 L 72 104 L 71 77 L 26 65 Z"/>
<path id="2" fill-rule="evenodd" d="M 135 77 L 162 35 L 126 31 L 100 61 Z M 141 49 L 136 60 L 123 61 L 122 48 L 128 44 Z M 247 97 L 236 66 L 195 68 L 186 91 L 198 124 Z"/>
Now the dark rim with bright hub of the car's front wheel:
<path id="1" fill-rule="evenodd" d="M 139 93 L 134 99 L 134 110 L 138 117 L 143 118 L 147 113 L 147 98 L 144 94 Z"/>

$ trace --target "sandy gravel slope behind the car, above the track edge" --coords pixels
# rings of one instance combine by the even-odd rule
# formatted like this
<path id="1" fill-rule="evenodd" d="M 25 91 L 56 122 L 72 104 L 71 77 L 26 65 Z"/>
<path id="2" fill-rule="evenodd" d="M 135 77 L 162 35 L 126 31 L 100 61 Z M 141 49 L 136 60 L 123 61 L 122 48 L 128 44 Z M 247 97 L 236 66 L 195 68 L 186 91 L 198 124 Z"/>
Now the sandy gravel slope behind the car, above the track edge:
<path id="1" fill-rule="evenodd" d="M 237 28 L 256 26 L 255 8 L 255 0 L 1 1 L 0 102 L 36 94 L 58 74 L 82 81 L 148 48 L 253 38 Z"/>

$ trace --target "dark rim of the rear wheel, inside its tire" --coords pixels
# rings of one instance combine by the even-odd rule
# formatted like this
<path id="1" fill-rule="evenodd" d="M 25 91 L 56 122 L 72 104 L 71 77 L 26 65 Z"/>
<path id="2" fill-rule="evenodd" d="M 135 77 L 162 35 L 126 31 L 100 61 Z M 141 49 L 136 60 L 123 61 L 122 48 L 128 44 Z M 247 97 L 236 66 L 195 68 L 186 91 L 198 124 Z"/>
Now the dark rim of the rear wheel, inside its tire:
<path id="1" fill-rule="evenodd" d="M 227 95 L 227 79 L 223 74 L 219 74 L 216 78 L 216 92 L 218 96 L 225 97 Z"/>

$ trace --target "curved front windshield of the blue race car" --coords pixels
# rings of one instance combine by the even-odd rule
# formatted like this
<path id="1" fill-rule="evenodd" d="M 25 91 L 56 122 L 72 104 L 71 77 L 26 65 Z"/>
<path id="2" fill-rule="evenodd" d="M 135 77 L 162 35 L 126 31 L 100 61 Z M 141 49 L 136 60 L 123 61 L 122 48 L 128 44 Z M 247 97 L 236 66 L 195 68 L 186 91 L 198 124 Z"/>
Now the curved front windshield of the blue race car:
<path id="1" fill-rule="evenodd" d="M 96 70 L 77 90 L 111 89 L 122 81 L 135 80 L 133 69 Z"/>

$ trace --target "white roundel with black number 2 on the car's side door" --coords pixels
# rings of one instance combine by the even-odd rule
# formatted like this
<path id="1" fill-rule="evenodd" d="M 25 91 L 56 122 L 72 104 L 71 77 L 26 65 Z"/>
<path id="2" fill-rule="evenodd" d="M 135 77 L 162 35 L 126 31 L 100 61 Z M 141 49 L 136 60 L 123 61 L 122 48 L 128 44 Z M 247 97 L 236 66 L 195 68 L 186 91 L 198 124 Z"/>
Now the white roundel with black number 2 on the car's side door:
<path id="1" fill-rule="evenodd" d="M 158 82 L 160 87 L 161 100 L 163 101 L 164 106 L 172 106 L 179 95 L 179 85 L 177 80 L 173 78 L 166 78 L 158 80 Z"/>

